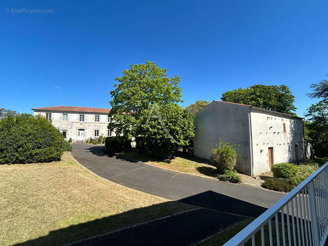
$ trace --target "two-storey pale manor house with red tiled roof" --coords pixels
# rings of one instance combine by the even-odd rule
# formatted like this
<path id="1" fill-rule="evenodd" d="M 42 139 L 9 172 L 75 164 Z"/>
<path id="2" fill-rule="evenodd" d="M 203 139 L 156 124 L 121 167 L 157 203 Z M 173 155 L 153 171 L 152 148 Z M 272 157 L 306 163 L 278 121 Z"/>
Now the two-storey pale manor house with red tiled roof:
<path id="1" fill-rule="evenodd" d="M 114 132 L 107 129 L 111 118 L 108 117 L 110 109 L 56 106 L 33 108 L 34 115 L 41 114 L 52 120 L 66 140 L 72 138 L 73 142 L 83 142 L 87 138 L 114 136 Z"/>

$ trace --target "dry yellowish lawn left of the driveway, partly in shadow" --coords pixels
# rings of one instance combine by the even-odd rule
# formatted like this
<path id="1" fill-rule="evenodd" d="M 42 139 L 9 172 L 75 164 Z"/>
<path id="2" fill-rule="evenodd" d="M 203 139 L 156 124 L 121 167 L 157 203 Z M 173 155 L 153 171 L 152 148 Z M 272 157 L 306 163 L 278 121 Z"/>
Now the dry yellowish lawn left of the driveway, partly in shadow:
<path id="1" fill-rule="evenodd" d="M 0 245 L 60 245 L 191 208 L 104 180 L 67 152 L 0 165 Z"/>

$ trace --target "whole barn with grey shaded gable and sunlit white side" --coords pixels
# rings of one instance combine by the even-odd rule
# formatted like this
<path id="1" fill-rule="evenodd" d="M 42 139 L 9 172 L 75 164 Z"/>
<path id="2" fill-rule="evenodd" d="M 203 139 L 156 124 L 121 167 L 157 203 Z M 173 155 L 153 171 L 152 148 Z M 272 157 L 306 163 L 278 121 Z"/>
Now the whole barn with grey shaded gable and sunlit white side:
<path id="1" fill-rule="evenodd" d="M 213 101 L 195 114 L 194 155 L 209 159 L 220 139 L 236 147 L 236 170 L 255 176 L 271 165 L 306 158 L 303 118 Z"/>

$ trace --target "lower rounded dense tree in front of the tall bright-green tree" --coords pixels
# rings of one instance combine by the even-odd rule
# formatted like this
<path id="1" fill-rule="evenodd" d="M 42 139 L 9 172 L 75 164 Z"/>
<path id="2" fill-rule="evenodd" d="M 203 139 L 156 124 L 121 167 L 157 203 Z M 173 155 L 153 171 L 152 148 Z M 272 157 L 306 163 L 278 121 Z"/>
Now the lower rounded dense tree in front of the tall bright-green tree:
<path id="1" fill-rule="evenodd" d="M 182 109 L 175 103 L 158 106 L 163 122 L 157 117 L 155 110 L 145 110 L 137 127 L 136 142 L 141 151 L 150 150 L 159 159 L 171 158 L 179 146 L 190 144 L 194 137 L 194 114 Z M 146 121 L 149 115 L 149 122 Z M 165 125 L 168 135 L 162 124 Z M 177 143 L 178 142 L 178 143 Z"/>

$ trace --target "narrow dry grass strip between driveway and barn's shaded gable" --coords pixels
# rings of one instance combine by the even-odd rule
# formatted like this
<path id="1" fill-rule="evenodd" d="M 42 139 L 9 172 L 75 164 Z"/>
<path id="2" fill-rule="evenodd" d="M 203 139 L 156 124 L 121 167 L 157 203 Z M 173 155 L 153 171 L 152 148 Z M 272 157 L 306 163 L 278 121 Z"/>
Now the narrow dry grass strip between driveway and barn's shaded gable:
<path id="1" fill-rule="evenodd" d="M 148 155 L 140 154 L 138 150 L 131 152 L 120 153 L 123 156 L 133 158 L 134 160 L 141 161 L 156 167 L 162 167 L 173 171 L 196 174 L 206 177 L 216 177 L 216 168 L 206 165 L 209 164 L 208 160 L 196 158 L 186 154 L 176 153 L 174 158 L 167 160 L 158 160 Z M 205 164 L 206 163 L 206 164 Z"/>

